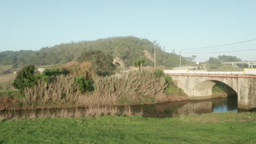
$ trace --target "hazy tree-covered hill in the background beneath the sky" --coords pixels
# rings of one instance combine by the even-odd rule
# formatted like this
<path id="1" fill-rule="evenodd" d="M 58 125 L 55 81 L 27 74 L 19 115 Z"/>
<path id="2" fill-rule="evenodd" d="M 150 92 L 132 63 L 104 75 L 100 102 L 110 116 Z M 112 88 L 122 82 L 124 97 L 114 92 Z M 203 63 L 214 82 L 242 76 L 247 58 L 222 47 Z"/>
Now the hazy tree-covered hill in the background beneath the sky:
<path id="1" fill-rule="evenodd" d="M 93 41 L 78 41 L 53 47 L 43 47 L 39 51 L 3 51 L 0 52 L 0 65 L 48 65 L 62 64 L 70 61 L 77 61 L 84 51 L 100 50 L 109 53 L 114 58 L 123 59 L 125 66 L 129 67 L 138 58 L 145 58 L 144 65 L 153 66 L 154 46 L 156 47 L 156 62 L 167 68 L 179 65 L 179 56 L 174 53 L 167 53 L 155 41 L 132 36 L 112 37 L 97 39 Z M 191 63 L 188 58 L 182 57 L 182 64 Z"/>

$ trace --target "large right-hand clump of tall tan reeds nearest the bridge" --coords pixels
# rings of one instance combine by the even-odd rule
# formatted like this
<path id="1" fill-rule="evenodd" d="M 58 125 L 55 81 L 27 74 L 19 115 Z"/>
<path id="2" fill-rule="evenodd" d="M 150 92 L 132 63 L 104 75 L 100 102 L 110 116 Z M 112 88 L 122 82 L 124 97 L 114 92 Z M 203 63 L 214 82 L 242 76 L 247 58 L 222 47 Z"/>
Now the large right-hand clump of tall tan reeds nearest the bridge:
<path id="1" fill-rule="evenodd" d="M 96 76 L 94 81 L 94 96 L 108 97 L 118 105 L 155 103 L 167 86 L 164 77 L 157 77 L 152 71 L 133 71 L 118 77 Z"/>

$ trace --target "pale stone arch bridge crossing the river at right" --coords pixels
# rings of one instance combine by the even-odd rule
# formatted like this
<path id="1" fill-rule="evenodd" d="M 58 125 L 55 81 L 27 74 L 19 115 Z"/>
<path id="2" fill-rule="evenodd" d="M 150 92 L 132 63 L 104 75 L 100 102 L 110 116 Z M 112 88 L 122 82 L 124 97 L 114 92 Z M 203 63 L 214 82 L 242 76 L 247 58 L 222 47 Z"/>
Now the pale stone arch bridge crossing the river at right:
<path id="1" fill-rule="evenodd" d="M 223 82 L 237 93 L 238 108 L 256 108 L 255 75 L 166 74 L 190 98 L 211 98 L 212 87 Z"/>

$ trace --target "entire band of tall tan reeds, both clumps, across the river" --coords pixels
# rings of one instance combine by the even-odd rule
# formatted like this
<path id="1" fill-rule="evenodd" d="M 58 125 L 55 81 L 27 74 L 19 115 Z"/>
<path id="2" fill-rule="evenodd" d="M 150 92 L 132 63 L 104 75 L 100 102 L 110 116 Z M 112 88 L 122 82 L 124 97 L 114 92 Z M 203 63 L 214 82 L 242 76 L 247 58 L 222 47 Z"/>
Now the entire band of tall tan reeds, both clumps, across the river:
<path id="1" fill-rule="evenodd" d="M 153 104 L 169 99 L 164 94 L 166 86 L 165 78 L 153 71 L 133 71 L 119 76 L 95 76 L 95 91 L 81 93 L 74 77 L 59 75 L 51 83 L 39 81 L 26 88 L 25 97 L 16 98 L 8 109 Z"/>

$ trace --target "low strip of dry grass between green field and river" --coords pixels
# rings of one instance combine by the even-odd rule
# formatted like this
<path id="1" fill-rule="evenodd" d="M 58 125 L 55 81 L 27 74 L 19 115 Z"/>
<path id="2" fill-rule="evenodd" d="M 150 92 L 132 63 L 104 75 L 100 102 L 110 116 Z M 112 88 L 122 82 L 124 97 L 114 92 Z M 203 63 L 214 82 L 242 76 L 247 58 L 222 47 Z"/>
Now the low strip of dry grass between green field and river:
<path id="1" fill-rule="evenodd" d="M 143 111 L 132 112 L 130 105 L 124 107 L 103 106 L 84 107 L 74 109 L 41 109 L 41 110 L 18 110 L 2 111 L 0 119 L 11 118 L 54 118 L 54 117 L 97 117 L 97 116 L 142 116 Z"/>

